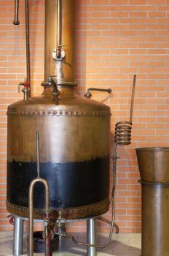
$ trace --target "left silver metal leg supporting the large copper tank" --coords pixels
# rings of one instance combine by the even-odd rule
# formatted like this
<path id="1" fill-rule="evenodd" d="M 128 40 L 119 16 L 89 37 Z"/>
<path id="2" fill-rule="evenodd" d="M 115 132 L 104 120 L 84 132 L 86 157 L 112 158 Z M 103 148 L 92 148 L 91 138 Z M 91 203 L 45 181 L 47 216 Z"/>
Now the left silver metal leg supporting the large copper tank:
<path id="1" fill-rule="evenodd" d="M 15 217 L 13 235 L 13 255 L 23 254 L 23 219 Z"/>

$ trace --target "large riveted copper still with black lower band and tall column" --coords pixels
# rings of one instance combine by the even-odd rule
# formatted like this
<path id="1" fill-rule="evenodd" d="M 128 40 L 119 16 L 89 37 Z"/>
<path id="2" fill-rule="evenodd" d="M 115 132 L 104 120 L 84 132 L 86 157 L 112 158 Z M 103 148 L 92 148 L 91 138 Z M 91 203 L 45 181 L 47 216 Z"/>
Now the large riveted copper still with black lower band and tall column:
<path id="1" fill-rule="evenodd" d="M 28 187 L 36 178 L 36 130 L 40 140 L 40 176 L 50 185 L 52 216 L 94 217 L 109 210 L 110 109 L 79 97 L 74 88 L 74 1 L 61 3 L 60 42 L 66 58 L 52 59 L 58 1 L 46 1 L 44 91 L 7 110 L 7 210 L 28 217 Z M 63 29 L 64 28 L 64 29 Z M 47 84 L 57 75 L 58 99 Z M 34 218 L 43 217 L 44 190 L 36 184 Z"/>

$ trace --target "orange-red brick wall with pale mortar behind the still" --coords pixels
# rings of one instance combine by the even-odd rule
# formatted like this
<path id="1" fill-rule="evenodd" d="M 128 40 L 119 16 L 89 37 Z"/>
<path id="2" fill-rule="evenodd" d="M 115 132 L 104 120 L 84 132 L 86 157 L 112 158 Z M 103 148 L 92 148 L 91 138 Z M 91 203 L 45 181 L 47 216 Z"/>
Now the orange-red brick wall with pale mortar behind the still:
<path id="1" fill-rule="evenodd" d="M 20 26 L 13 26 L 14 1 L 0 1 L 0 230 L 10 230 L 5 208 L 7 106 L 23 97 L 17 84 L 25 78 L 24 7 Z M 116 222 L 120 232 L 141 231 L 141 186 L 135 147 L 168 146 L 168 0 L 76 0 L 76 82 L 84 94 L 90 86 L 111 88 L 93 92 L 93 99 L 111 107 L 111 132 L 128 120 L 133 75 L 137 75 L 132 144 L 118 148 Z M 30 1 L 31 86 L 34 95 L 44 72 L 44 1 Z M 113 138 L 113 135 L 112 135 Z M 111 218 L 111 211 L 106 214 Z M 84 222 L 68 231 L 82 232 Z M 100 231 L 108 231 L 99 224 Z"/>

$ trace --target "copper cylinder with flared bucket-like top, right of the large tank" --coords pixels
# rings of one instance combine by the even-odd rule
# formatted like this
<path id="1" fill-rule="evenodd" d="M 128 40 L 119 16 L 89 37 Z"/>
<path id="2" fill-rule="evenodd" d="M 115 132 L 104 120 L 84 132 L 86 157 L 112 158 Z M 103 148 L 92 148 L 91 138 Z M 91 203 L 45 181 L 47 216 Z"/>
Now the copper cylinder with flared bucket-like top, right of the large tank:
<path id="1" fill-rule="evenodd" d="M 141 256 L 169 255 L 169 148 L 136 148 L 141 174 Z"/>

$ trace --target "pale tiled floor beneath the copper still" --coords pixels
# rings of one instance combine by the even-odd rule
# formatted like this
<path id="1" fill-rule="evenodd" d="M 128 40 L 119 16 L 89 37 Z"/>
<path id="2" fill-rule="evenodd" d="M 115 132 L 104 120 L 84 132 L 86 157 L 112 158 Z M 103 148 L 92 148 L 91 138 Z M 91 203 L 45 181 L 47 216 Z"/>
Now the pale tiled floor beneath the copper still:
<path id="1" fill-rule="evenodd" d="M 75 234 L 80 241 L 85 241 L 84 234 Z M 24 239 L 25 240 L 25 239 Z M 106 242 L 106 234 L 98 236 L 98 243 Z M 26 244 L 23 246 L 23 255 L 26 252 Z M 0 256 L 12 255 L 12 233 L 0 233 Z M 44 254 L 34 254 L 44 255 Z M 60 251 L 54 252 L 52 255 L 58 256 L 84 256 L 87 255 L 84 246 L 77 246 L 68 238 L 63 238 L 60 245 Z M 141 255 L 141 234 L 114 234 L 111 244 L 105 249 L 98 249 L 97 256 L 140 256 Z"/>

